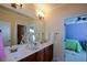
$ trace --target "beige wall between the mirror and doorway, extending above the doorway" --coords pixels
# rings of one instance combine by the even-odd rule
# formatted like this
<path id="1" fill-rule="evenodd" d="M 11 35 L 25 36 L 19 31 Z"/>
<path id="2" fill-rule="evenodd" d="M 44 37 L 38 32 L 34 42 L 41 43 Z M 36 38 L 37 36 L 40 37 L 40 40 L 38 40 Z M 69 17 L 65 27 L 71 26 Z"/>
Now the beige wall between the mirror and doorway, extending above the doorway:
<path id="1" fill-rule="evenodd" d="M 50 13 L 50 17 L 45 18 L 46 39 L 48 39 L 48 34 L 52 35 L 56 32 L 58 33 L 56 42 L 54 43 L 54 56 L 58 57 L 58 61 L 62 61 L 64 54 L 64 20 L 66 18 L 87 14 L 87 4 L 65 4 L 53 10 L 53 12 Z"/>

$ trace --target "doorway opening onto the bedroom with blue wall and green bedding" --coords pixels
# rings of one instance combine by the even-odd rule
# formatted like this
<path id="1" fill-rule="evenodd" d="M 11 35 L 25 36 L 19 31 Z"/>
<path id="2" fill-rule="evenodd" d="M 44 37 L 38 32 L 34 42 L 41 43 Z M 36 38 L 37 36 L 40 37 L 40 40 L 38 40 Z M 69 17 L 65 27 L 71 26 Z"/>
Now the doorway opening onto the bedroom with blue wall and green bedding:
<path id="1" fill-rule="evenodd" d="M 87 15 L 65 21 L 65 62 L 86 62 Z"/>

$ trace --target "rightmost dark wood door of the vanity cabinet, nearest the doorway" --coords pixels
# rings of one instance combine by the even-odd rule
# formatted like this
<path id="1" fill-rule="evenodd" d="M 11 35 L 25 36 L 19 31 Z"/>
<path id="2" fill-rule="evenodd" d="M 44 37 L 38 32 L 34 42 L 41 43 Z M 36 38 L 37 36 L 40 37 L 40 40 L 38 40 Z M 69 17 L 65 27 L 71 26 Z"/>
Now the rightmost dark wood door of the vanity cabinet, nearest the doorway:
<path id="1" fill-rule="evenodd" d="M 45 48 L 45 62 L 51 62 L 53 59 L 53 45 Z"/>

